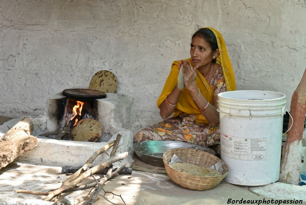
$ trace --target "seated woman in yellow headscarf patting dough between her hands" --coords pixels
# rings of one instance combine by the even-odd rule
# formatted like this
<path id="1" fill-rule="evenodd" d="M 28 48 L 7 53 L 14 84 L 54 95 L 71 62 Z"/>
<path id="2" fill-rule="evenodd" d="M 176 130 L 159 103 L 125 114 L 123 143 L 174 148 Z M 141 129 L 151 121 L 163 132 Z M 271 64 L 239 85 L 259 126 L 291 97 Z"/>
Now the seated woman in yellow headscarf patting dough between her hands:
<path id="1" fill-rule="evenodd" d="M 220 141 L 218 94 L 236 89 L 232 64 L 222 35 L 215 29 L 199 29 L 190 44 L 187 60 L 174 61 L 157 100 L 163 119 L 139 131 L 134 142 L 145 140 L 184 141 L 216 145 Z M 185 87 L 179 90 L 177 77 L 183 65 Z"/>

